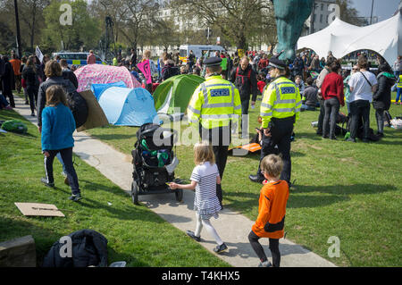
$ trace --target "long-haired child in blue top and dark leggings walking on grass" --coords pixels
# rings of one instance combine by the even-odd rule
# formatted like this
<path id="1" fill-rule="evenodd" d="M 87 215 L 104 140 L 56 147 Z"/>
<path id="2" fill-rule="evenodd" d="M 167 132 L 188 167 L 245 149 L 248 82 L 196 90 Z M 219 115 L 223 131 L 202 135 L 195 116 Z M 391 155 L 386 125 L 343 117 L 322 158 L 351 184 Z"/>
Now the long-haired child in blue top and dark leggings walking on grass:
<path id="1" fill-rule="evenodd" d="M 65 172 L 71 187 L 70 199 L 77 202 L 81 199 L 79 181 L 72 163 L 72 147 L 75 120 L 67 105 L 63 87 L 52 85 L 46 89 L 46 108 L 42 112 L 42 153 L 45 155 L 46 177 L 41 181 L 47 187 L 54 187 L 54 156 L 62 155 Z"/>

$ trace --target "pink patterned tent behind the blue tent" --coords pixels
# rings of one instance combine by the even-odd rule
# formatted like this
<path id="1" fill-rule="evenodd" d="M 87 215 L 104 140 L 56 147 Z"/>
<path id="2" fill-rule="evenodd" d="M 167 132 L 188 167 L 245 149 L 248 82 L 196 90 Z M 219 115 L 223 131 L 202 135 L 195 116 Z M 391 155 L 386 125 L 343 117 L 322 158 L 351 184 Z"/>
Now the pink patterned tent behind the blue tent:
<path id="1" fill-rule="evenodd" d="M 94 83 L 114 83 L 123 81 L 127 88 L 140 88 L 141 84 L 124 66 L 88 64 L 74 71 L 79 81 L 78 92 L 88 90 Z"/>

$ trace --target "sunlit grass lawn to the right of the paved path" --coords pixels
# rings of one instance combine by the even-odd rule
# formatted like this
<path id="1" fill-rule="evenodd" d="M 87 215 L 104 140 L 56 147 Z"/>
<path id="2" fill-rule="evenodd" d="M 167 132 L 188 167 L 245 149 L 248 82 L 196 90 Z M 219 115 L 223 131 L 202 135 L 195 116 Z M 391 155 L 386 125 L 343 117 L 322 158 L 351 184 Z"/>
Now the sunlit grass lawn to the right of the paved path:
<path id="1" fill-rule="evenodd" d="M 258 125 L 259 104 L 250 109 L 250 130 Z M 346 107 L 341 111 L 347 113 Z M 402 115 L 402 105 L 392 105 L 389 112 Z M 401 266 L 402 132 L 385 128 L 386 137 L 370 144 L 331 141 L 315 135 L 310 123 L 317 117 L 318 111 L 301 113 L 295 129 L 291 155 L 297 189 L 289 197 L 287 238 L 339 266 Z M 371 127 L 377 130 L 373 108 Z M 187 129 L 185 123 L 180 129 Z M 137 130 L 109 126 L 88 133 L 130 155 Z M 192 146 L 178 146 L 177 155 L 176 176 L 189 178 Z M 222 180 L 224 205 L 252 220 L 260 186 L 248 175 L 258 163 L 259 154 L 230 156 Z M 332 236 L 340 240 L 340 256 L 329 258 Z"/>

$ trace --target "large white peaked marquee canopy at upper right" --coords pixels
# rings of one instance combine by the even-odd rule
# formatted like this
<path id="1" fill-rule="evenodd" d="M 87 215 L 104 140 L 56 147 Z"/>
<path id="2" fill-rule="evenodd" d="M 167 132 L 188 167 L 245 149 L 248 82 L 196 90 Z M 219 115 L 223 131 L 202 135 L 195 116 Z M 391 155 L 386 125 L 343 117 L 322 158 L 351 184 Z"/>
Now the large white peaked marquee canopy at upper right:
<path id="1" fill-rule="evenodd" d="M 388 20 L 365 27 L 350 25 L 336 18 L 327 28 L 299 38 L 297 49 L 302 48 L 313 49 L 320 57 L 325 57 L 331 51 L 337 58 L 356 50 L 373 50 L 392 65 L 398 54 L 402 54 L 401 12 Z"/>

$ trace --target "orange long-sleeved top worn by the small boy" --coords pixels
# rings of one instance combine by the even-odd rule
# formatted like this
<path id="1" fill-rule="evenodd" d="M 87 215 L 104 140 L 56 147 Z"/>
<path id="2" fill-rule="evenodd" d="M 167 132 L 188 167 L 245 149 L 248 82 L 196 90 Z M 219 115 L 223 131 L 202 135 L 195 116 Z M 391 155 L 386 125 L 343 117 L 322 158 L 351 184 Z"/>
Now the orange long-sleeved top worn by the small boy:
<path id="1" fill-rule="evenodd" d="M 260 238 L 281 239 L 284 235 L 289 185 L 285 180 L 270 182 L 260 192 L 258 217 L 251 230 Z"/>

